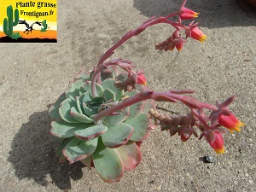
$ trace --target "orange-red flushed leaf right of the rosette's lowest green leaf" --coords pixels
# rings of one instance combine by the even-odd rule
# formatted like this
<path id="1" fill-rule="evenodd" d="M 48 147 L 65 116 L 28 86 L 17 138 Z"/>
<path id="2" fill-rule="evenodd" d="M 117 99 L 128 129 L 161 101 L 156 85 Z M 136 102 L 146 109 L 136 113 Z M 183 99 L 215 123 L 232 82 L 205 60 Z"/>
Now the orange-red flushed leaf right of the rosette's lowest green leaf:
<path id="1" fill-rule="evenodd" d="M 136 143 L 130 141 L 116 149 L 119 152 L 125 170 L 132 170 L 141 163 L 143 155 Z"/>

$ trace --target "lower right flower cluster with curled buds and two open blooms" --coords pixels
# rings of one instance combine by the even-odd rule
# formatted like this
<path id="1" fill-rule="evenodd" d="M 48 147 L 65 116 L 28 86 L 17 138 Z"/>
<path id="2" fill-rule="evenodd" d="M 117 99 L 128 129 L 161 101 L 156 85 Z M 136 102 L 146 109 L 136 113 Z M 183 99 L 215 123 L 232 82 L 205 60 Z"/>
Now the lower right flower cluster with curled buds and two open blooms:
<path id="1" fill-rule="evenodd" d="M 183 90 L 183 93 L 185 92 L 186 91 Z M 160 125 L 161 131 L 168 130 L 171 136 L 177 133 L 183 142 L 186 142 L 192 134 L 195 137 L 198 137 L 195 131 L 195 127 L 198 127 L 201 131 L 200 139 L 205 137 L 207 143 L 210 144 L 217 154 L 224 154 L 224 138 L 222 134 L 226 131 L 224 131 L 221 126 L 230 130 L 231 133 L 234 130 L 240 131 L 240 127 L 244 126 L 244 124 L 241 123 L 241 121 L 238 120 L 226 106 L 230 104 L 234 98 L 235 96 L 232 96 L 217 106 L 212 106 L 197 101 L 197 107 L 190 106 L 189 108 L 191 113 L 186 115 L 171 116 L 168 114 L 159 113 L 153 109 L 149 111 L 149 114 L 151 115 L 151 119 L 154 119 L 155 124 Z M 186 102 L 188 104 L 190 98 L 187 97 L 184 100 L 179 100 L 184 104 L 186 104 Z M 205 113 L 203 113 L 203 108 L 212 110 L 212 113 L 207 116 Z M 216 120 L 218 123 L 216 123 Z"/>

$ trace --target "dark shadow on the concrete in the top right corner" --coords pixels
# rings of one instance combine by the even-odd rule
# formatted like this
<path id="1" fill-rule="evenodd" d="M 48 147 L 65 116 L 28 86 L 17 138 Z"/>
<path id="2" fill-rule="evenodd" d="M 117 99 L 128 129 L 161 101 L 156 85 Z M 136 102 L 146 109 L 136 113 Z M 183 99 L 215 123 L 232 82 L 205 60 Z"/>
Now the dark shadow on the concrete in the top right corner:
<path id="1" fill-rule="evenodd" d="M 177 11 L 181 3 L 182 0 L 133 0 L 133 7 L 147 17 L 165 16 Z M 195 22 L 207 28 L 256 26 L 256 9 L 243 0 L 187 1 L 186 7 L 200 12 Z"/>

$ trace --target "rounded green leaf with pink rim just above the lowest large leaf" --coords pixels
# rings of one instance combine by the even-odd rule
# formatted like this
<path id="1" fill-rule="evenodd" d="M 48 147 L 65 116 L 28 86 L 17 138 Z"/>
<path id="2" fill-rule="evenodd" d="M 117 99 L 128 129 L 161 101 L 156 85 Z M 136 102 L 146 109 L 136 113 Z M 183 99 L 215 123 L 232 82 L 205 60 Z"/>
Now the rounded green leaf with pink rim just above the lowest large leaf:
<path id="1" fill-rule="evenodd" d="M 133 133 L 131 125 L 121 123 L 119 125 L 108 127 L 108 131 L 102 134 L 102 142 L 108 148 L 118 148 L 127 143 Z"/>

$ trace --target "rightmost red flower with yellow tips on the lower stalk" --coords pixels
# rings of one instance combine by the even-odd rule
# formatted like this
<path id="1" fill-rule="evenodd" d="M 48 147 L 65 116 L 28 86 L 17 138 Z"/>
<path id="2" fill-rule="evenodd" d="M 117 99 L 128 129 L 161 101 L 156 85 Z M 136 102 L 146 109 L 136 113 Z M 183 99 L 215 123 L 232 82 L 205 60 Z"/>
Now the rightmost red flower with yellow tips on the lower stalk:
<path id="1" fill-rule="evenodd" d="M 229 129 L 232 133 L 233 131 L 241 131 L 241 126 L 244 124 L 236 118 L 236 116 L 231 113 L 230 115 L 220 114 L 218 116 L 218 124 L 224 126 Z"/>

